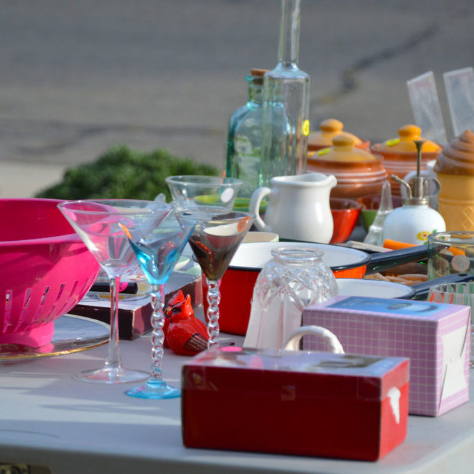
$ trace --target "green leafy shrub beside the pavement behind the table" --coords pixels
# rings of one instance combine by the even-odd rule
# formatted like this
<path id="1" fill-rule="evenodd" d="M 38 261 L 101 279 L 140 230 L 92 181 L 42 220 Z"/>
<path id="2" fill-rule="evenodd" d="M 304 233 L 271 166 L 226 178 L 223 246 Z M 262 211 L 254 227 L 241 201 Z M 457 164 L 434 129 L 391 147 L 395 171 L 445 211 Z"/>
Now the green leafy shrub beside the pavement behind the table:
<path id="1" fill-rule="evenodd" d="M 65 171 L 63 181 L 40 191 L 37 198 L 125 198 L 153 200 L 158 193 L 171 196 L 165 178 L 174 175 L 219 175 L 219 169 L 166 150 L 142 152 L 119 145 L 95 161 Z"/>

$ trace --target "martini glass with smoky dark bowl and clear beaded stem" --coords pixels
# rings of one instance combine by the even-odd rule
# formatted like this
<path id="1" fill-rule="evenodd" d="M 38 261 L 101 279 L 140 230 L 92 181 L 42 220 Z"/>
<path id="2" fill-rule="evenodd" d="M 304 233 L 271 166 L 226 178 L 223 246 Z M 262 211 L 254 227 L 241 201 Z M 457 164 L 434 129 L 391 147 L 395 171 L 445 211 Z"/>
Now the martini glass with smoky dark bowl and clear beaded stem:
<path id="1" fill-rule="evenodd" d="M 209 349 L 219 343 L 219 278 L 226 272 L 255 216 L 248 212 L 229 211 L 225 207 L 198 206 L 179 212 L 177 219 L 196 222 L 189 245 L 207 281 Z"/>

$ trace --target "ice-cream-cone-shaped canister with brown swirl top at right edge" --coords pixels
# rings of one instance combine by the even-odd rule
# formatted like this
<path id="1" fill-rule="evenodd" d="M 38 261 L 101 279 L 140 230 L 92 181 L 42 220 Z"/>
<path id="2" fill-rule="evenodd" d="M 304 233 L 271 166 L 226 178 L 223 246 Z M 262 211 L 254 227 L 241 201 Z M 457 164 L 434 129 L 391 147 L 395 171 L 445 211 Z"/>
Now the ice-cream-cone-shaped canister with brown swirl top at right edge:
<path id="1" fill-rule="evenodd" d="M 474 133 L 466 130 L 445 145 L 434 165 L 441 183 L 438 211 L 446 230 L 474 231 Z"/>

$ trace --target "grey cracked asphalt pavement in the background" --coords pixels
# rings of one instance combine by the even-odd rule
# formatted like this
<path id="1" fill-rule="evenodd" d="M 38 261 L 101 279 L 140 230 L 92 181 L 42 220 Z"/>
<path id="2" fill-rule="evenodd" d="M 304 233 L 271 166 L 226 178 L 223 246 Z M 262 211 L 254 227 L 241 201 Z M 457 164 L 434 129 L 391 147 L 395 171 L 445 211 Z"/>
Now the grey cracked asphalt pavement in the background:
<path id="1" fill-rule="evenodd" d="M 245 75 L 273 68 L 279 0 L 0 0 L 0 197 L 27 197 L 109 146 L 223 167 Z M 473 65 L 470 0 L 301 0 L 312 129 L 381 141 L 413 123 L 406 81 Z"/>

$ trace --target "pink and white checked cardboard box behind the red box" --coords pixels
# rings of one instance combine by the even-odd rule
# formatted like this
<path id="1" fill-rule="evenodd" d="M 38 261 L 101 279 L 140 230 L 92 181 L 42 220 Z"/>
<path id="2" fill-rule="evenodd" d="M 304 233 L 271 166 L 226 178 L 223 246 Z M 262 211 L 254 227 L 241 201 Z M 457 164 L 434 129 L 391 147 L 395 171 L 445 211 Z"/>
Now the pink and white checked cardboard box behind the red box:
<path id="1" fill-rule="evenodd" d="M 410 358 L 409 413 L 439 416 L 469 400 L 470 308 L 370 297 L 334 297 L 303 311 L 346 352 Z M 307 335 L 303 349 L 326 351 Z"/>

